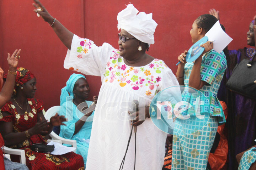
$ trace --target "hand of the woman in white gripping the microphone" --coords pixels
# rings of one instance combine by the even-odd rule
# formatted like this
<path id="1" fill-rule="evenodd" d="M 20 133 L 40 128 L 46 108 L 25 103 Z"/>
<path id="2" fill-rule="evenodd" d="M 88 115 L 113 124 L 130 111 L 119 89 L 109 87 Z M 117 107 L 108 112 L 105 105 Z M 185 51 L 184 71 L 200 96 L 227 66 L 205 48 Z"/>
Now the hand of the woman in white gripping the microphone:
<path id="1" fill-rule="evenodd" d="M 133 126 L 139 126 L 149 117 L 149 106 L 145 107 L 145 113 L 140 111 L 133 112 L 130 114 L 130 117 L 134 118 L 130 120 L 131 122 L 133 121 Z"/>

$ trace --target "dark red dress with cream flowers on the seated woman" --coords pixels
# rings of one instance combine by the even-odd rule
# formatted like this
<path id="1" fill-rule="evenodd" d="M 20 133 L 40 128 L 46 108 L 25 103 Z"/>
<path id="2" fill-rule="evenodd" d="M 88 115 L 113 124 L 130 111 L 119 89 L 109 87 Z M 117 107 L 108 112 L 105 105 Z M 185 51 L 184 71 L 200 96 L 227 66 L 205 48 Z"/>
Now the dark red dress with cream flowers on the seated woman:
<path id="1" fill-rule="evenodd" d="M 27 114 L 18 114 L 11 101 L 7 102 L 0 110 L 0 121 L 12 121 L 14 132 L 22 132 L 32 128 L 37 123 L 37 113 L 43 110 L 42 103 L 39 100 L 34 100 L 33 98 L 27 98 L 27 100 L 32 109 L 32 111 Z M 1 112 L 9 112 L 11 115 L 3 117 Z M 46 143 L 46 141 L 47 140 L 41 135 L 33 135 L 18 145 L 9 147 L 25 150 L 26 164 L 30 170 L 84 170 L 84 160 L 82 156 L 74 152 L 63 155 L 52 155 L 31 151 L 31 145 L 34 143 Z"/>

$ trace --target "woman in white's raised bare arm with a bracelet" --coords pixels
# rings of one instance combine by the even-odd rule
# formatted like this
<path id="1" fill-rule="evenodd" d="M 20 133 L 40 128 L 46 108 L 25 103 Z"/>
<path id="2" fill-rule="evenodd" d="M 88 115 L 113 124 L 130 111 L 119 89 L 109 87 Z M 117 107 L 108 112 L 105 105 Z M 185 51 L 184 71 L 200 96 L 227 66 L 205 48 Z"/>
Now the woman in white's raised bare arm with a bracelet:
<path id="1" fill-rule="evenodd" d="M 34 12 L 38 13 L 44 21 L 50 24 L 59 39 L 70 50 L 74 34 L 66 29 L 57 19 L 53 18 L 38 0 L 34 0 L 34 2 L 33 5 L 36 7 Z M 39 11 L 39 9 L 41 9 L 41 11 Z"/>

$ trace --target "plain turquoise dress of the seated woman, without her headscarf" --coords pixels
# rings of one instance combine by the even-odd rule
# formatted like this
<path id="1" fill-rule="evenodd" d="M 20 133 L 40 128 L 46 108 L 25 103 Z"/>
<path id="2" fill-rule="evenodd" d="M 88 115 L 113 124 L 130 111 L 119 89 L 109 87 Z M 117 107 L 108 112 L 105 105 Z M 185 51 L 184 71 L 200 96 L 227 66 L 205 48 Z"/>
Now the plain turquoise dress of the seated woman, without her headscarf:
<path id="1" fill-rule="evenodd" d="M 86 103 L 90 106 L 92 102 L 86 101 Z M 75 131 L 75 123 L 84 115 L 84 113 L 81 113 L 72 100 L 69 100 L 62 104 L 59 114 L 64 115 L 68 119 L 68 121 L 65 122 L 66 126 L 60 126 L 59 136 L 66 139 L 76 140 L 76 153 L 82 155 L 84 158 L 84 165 L 86 166 L 94 112 L 87 118 L 82 128 L 75 135 L 73 135 Z"/>

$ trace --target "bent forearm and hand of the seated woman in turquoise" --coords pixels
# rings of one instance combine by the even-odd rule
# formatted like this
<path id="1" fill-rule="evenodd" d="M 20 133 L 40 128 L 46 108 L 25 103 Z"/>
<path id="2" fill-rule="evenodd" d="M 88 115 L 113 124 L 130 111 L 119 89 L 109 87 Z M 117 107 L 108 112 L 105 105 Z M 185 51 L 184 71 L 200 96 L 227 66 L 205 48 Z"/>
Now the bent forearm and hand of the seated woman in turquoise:
<path id="1" fill-rule="evenodd" d="M 84 116 L 82 116 L 76 123 L 75 123 L 75 131 L 74 131 L 74 135 L 77 134 L 79 132 L 79 130 L 82 128 L 82 126 L 85 124 L 87 118 L 92 114 L 92 112 L 94 111 L 96 104 L 97 104 L 97 100 L 98 100 L 98 96 L 94 96 L 93 97 L 93 102 L 91 106 L 87 109 L 85 109 L 84 111 L 82 111 L 82 113 L 84 113 Z"/>

